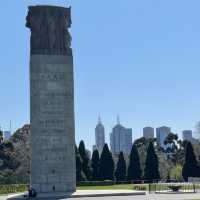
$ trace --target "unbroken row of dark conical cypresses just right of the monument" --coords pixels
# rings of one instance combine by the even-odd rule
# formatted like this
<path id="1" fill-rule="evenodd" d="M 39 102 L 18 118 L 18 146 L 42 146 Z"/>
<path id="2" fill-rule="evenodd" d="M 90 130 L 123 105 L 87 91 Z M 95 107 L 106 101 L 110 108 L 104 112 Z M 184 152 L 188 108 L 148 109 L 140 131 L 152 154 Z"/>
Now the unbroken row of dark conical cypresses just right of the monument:
<path id="1" fill-rule="evenodd" d="M 126 166 L 123 152 L 120 152 L 118 162 L 115 166 L 112 153 L 105 144 L 101 155 L 95 150 L 90 161 L 84 142 L 81 141 L 76 147 L 76 177 L 77 181 L 133 181 L 133 180 L 155 180 L 160 179 L 158 158 L 154 145 L 149 143 L 144 173 L 141 169 L 140 157 L 137 146 L 133 144 L 129 155 L 129 164 Z"/>

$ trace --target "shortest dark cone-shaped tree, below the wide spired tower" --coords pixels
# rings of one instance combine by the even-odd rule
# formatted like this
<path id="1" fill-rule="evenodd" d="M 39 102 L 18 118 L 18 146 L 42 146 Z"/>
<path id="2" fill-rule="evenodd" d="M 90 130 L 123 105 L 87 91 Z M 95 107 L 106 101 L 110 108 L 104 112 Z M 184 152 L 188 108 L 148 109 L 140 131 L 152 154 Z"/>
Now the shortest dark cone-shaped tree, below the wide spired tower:
<path id="1" fill-rule="evenodd" d="M 119 154 L 117 168 L 115 170 L 115 178 L 117 181 L 125 181 L 126 179 L 126 161 L 123 152 L 120 152 Z"/>

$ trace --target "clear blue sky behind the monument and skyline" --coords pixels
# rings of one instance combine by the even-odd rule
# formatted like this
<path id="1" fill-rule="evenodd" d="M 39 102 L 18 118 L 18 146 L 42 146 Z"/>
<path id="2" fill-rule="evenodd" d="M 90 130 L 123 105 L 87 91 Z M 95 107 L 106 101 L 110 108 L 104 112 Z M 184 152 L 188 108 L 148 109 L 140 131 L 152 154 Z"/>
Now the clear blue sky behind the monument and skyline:
<path id="1" fill-rule="evenodd" d="M 72 6 L 77 142 L 91 148 L 100 113 L 116 123 L 175 133 L 200 120 L 199 0 L 7 0 L 0 12 L 0 124 L 29 122 L 27 6 Z"/>

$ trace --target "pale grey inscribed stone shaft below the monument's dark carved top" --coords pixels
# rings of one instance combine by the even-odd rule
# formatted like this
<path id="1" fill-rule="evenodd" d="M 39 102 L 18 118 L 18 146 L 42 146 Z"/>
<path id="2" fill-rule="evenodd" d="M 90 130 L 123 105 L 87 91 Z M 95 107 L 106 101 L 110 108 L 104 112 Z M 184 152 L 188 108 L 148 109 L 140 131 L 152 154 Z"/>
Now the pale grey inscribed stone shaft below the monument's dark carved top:
<path id="1" fill-rule="evenodd" d="M 30 66 L 31 185 L 39 192 L 74 191 L 72 57 L 32 55 Z"/>

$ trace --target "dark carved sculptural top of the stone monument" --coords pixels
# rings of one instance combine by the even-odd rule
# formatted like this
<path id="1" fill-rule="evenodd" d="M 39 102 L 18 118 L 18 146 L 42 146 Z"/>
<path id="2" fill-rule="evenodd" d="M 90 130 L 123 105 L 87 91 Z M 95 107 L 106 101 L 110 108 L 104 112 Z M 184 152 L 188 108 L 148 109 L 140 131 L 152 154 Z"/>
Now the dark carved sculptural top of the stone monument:
<path id="1" fill-rule="evenodd" d="M 72 55 L 71 7 L 30 6 L 26 27 L 31 30 L 31 54 Z"/>

